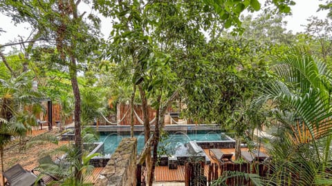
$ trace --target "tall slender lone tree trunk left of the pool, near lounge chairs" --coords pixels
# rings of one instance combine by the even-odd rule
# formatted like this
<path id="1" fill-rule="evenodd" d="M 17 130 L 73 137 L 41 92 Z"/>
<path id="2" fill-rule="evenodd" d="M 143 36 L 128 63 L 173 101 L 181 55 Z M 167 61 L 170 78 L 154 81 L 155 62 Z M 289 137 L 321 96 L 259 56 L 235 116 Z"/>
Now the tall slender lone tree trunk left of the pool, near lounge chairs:
<path id="1" fill-rule="evenodd" d="M 82 137 L 81 137 L 81 97 L 80 97 L 80 89 L 78 87 L 77 83 L 77 66 L 76 66 L 76 60 L 73 55 L 71 55 L 71 65 L 69 65 L 69 70 L 71 72 L 71 85 L 73 87 L 73 94 L 75 99 L 75 110 L 74 110 L 74 116 L 75 116 L 75 147 L 77 149 L 77 162 L 82 164 Z M 77 182 L 80 182 L 82 180 L 82 172 L 80 171 L 80 167 L 75 166 L 75 178 Z"/>

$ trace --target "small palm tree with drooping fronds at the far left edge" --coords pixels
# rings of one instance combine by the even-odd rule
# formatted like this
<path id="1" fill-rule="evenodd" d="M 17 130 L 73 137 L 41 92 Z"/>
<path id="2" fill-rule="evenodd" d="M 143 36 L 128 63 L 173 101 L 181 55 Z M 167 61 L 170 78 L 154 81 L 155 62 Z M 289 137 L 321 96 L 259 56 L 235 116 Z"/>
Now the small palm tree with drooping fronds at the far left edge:
<path id="1" fill-rule="evenodd" d="M 0 79 L 0 154 L 3 171 L 3 147 L 12 136 L 25 136 L 36 125 L 35 113 L 24 110 L 26 105 L 39 105 L 42 94 L 33 90 L 32 80 L 26 73 L 9 80 Z M 4 183 L 4 180 L 3 180 Z"/>

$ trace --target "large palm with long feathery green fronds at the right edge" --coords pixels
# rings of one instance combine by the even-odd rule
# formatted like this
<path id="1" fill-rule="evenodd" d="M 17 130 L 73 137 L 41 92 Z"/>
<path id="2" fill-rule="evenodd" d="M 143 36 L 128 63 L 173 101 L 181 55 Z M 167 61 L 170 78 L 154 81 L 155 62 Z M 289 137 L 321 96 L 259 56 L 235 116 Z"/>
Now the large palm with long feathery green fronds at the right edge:
<path id="1" fill-rule="evenodd" d="M 273 185 L 312 185 L 322 180 L 331 159 L 331 72 L 299 50 L 277 59 L 277 80 L 263 88 L 256 105 L 273 103 L 276 119 Z M 324 145 L 324 146 L 323 146 Z"/>

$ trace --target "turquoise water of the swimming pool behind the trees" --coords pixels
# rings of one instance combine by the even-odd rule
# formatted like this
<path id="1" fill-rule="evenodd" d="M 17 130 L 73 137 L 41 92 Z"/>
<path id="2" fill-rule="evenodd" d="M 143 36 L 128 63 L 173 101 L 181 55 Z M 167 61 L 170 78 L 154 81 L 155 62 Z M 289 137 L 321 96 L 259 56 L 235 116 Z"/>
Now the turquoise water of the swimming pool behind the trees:
<path id="1" fill-rule="evenodd" d="M 104 133 L 100 135 L 100 141 L 104 142 L 104 154 L 113 154 L 118 147 L 122 138 L 129 138 L 129 134 L 119 135 L 116 132 Z M 144 134 L 135 135 L 138 139 L 137 149 L 138 153 L 144 147 Z M 186 151 L 186 144 L 189 141 L 228 141 L 229 138 L 223 133 L 216 132 L 200 132 L 199 134 L 185 134 L 183 132 L 173 132 L 169 134 L 168 138 L 162 143 L 159 143 L 159 148 L 166 149 L 167 154 L 184 154 Z"/>

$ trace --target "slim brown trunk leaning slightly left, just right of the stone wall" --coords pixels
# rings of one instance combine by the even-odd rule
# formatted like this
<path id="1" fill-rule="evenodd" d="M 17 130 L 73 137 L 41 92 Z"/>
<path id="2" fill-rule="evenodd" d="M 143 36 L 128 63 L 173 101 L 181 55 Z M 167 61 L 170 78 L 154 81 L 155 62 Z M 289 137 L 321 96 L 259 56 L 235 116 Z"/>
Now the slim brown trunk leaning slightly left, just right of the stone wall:
<path id="1" fill-rule="evenodd" d="M 144 117 L 144 136 L 145 136 L 145 143 L 147 143 L 150 137 L 149 108 L 147 105 L 147 96 L 145 95 L 145 91 L 142 89 L 142 85 L 138 85 L 138 90 L 140 90 L 140 98 L 142 99 L 142 111 Z M 147 147 L 147 156 L 145 156 L 145 166 L 147 167 L 147 180 L 150 180 L 151 168 L 152 168 L 151 147 Z"/>

